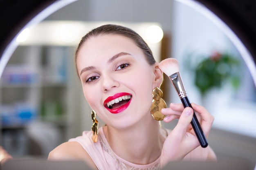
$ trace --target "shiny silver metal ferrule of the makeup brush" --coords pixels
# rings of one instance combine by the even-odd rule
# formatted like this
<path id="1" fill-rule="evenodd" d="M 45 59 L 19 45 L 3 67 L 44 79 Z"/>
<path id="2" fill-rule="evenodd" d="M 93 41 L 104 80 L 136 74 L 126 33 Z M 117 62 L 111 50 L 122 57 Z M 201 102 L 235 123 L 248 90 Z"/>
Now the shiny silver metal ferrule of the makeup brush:
<path id="1" fill-rule="evenodd" d="M 187 97 L 186 90 L 184 88 L 180 72 L 170 75 L 170 79 L 173 82 L 176 92 L 178 93 L 180 99 Z"/>

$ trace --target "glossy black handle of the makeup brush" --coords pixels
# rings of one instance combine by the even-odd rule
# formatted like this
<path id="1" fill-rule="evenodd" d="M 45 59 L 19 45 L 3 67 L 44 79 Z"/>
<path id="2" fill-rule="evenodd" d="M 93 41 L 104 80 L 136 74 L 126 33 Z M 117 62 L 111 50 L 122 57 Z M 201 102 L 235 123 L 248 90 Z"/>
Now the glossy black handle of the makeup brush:
<path id="1" fill-rule="evenodd" d="M 184 108 L 186 108 L 186 107 L 191 107 L 192 108 L 188 97 L 181 98 L 181 102 L 182 102 Z M 195 112 L 193 113 L 193 118 L 192 118 L 192 121 L 191 121 L 191 125 L 192 125 L 192 127 L 195 131 L 195 135 L 198 137 L 198 141 L 199 141 L 200 145 L 202 146 L 202 148 L 206 148 L 208 146 L 208 142 L 207 142 L 207 139 L 204 136 L 204 132 L 203 132 L 203 130 L 202 130 L 202 128 L 201 128 L 201 126 L 198 122 L 198 119 L 195 115 Z"/>

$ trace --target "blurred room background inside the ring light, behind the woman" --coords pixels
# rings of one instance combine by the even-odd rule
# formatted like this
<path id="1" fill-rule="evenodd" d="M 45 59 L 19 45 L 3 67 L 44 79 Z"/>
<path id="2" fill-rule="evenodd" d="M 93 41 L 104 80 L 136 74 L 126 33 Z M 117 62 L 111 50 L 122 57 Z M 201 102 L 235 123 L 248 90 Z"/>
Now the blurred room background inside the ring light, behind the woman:
<path id="1" fill-rule="evenodd" d="M 190 101 L 215 117 L 209 145 L 217 157 L 256 161 L 256 88 L 248 51 L 216 16 L 190 0 L 77 0 L 24 29 L 0 79 L 0 145 L 13 157 L 47 158 L 59 144 L 90 130 L 91 109 L 74 51 L 83 35 L 106 23 L 134 29 L 158 62 L 179 61 Z M 180 103 L 164 79 L 166 103 Z"/>

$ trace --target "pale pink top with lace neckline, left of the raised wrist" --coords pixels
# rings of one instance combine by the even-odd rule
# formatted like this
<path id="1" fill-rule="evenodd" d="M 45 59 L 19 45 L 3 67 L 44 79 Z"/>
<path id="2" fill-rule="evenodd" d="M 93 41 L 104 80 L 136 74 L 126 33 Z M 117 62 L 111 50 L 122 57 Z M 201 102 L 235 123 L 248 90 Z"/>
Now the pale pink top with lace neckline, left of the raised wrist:
<path id="1" fill-rule="evenodd" d="M 78 142 L 90 155 L 99 170 L 159 170 L 160 157 L 147 165 L 130 163 L 117 156 L 110 148 L 103 132 L 103 127 L 98 130 L 98 141 L 92 141 L 92 131 L 84 131 L 82 136 L 72 138 L 69 141 Z"/>

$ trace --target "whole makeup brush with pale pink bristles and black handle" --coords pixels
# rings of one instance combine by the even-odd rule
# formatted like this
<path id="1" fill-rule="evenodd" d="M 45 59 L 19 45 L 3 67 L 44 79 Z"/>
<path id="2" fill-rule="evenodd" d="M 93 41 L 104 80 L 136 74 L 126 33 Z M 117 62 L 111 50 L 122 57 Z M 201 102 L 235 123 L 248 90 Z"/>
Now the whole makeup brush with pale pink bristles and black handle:
<path id="1" fill-rule="evenodd" d="M 187 96 L 186 90 L 184 88 L 182 78 L 180 76 L 179 63 L 175 58 L 167 58 L 159 63 L 160 69 L 169 77 L 173 86 L 180 97 L 180 100 L 185 107 L 191 107 L 191 103 L 189 102 L 189 98 Z M 193 109 L 193 108 L 192 108 Z M 193 113 L 193 119 L 191 121 L 191 125 L 195 131 L 195 135 L 198 138 L 198 141 L 202 148 L 206 148 L 208 146 L 207 139 L 204 136 L 204 132 L 198 122 L 198 119 Z"/>

